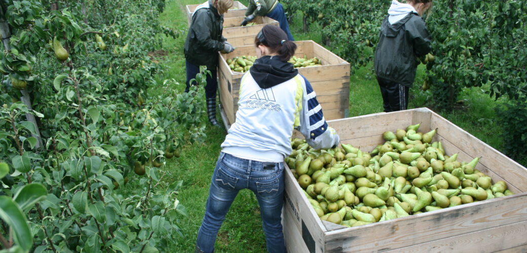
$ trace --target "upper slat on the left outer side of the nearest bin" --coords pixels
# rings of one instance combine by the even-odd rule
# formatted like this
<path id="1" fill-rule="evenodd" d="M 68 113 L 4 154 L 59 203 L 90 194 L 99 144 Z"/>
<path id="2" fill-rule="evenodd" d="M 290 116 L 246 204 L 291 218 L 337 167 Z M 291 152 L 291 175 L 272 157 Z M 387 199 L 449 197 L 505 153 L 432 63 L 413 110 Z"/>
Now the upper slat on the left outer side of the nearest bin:
<path id="1" fill-rule="evenodd" d="M 291 214 L 294 214 L 292 222 L 296 224 L 299 230 L 302 230 L 302 222 L 309 231 L 310 237 L 313 238 L 316 245 L 316 252 L 323 252 L 324 247 L 324 232 L 326 227 L 322 224 L 320 218 L 316 215 L 315 210 L 309 204 L 306 196 L 302 194 L 301 188 L 298 185 L 295 177 L 289 171 L 286 165 L 285 168 L 285 187 L 286 187 L 286 203 L 284 209 L 289 209 Z M 299 235 L 302 236 L 302 235 Z"/>

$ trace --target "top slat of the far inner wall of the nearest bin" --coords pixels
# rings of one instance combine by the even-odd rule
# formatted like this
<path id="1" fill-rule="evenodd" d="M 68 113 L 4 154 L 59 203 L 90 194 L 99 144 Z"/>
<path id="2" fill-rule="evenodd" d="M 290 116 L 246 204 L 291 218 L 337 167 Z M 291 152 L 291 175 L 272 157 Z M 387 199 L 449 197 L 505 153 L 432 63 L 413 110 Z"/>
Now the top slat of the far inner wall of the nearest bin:
<path id="1" fill-rule="evenodd" d="M 341 139 L 355 139 L 382 135 L 384 131 L 394 131 L 411 125 L 412 111 L 403 110 L 393 113 L 376 113 L 328 122 L 337 130 Z"/>

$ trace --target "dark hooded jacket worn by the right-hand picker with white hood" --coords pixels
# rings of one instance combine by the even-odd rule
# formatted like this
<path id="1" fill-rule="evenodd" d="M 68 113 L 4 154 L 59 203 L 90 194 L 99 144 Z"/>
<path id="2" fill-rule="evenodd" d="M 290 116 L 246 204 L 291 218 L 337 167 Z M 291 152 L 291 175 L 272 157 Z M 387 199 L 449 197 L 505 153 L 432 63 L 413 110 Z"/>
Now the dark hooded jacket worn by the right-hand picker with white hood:
<path id="1" fill-rule="evenodd" d="M 375 73 L 378 78 L 411 87 L 421 57 L 432 50 L 430 34 L 417 13 L 409 13 L 390 24 L 388 16 L 380 26 L 379 43 L 375 49 Z"/>

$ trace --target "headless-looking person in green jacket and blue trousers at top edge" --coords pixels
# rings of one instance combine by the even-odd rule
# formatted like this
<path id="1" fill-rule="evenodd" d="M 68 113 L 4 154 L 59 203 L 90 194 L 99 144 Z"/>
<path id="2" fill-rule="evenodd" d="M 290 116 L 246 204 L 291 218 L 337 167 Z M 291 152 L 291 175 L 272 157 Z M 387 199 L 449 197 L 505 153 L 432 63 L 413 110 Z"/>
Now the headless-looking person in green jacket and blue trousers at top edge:
<path id="1" fill-rule="evenodd" d="M 278 21 L 280 28 L 286 32 L 288 41 L 295 41 L 291 31 L 289 31 L 289 23 L 287 22 L 284 7 L 282 7 L 278 0 L 249 0 L 249 6 L 247 7 L 245 16 L 240 24 L 241 26 L 247 25 L 256 16 L 267 16 Z"/>

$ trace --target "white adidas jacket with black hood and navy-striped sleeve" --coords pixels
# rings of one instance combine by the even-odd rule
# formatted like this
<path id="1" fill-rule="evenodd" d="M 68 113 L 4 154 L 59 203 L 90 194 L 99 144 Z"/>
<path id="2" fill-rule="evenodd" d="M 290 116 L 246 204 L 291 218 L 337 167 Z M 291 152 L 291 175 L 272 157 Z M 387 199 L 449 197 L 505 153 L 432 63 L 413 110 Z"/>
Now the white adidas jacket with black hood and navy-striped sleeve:
<path id="1" fill-rule="evenodd" d="M 294 128 L 315 149 L 334 147 L 340 140 L 328 127 L 306 78 L 277 56 L 262 56 L 241 79 L 236 122 L 221 144 L 222 151 L 244 159 L 282 162 L 291 154 Z"/>

